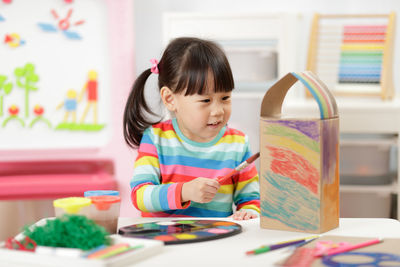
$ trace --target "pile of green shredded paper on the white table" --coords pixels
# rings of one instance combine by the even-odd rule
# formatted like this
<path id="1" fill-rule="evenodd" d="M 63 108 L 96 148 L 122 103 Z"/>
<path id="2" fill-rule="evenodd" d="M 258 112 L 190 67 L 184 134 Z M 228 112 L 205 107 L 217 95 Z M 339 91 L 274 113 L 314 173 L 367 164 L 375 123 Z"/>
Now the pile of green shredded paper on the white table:
<path id="1" fill-rule="evenodd" d="M 82 215 L 64 214 L 47 220 L 43 226 L 26 226 L 24 235 L 33 239 L 38 246 L 48 247 L 89 250 L 111 243 L 103 227 Z"/>

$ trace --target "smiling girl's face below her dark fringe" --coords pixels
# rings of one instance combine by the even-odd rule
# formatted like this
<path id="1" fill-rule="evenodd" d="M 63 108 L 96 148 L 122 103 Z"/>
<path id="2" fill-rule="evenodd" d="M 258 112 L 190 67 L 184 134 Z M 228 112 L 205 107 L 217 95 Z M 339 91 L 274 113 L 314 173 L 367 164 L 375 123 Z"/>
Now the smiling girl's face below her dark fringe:
<path id="1" fill-rule="evenodd" d="M 231 92 L 174 94 L 174 112 L 182 133 L 195 142 L 213 140 L 231 116 Z"/>

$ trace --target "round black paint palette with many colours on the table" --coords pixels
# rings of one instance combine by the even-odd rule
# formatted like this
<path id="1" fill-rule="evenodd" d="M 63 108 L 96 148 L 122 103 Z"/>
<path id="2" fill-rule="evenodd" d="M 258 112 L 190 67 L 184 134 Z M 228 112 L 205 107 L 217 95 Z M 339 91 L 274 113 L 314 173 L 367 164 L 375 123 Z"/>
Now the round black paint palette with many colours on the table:
<path id="1" fill-rule="evenodd" d="M 242 232 L 241 225 L 218 220 L 172 220 L 140 223 L 121 227 L 118 231 L 124 237 L 159 240 L 166 245 L 214 240 L 240 232 Z"/>

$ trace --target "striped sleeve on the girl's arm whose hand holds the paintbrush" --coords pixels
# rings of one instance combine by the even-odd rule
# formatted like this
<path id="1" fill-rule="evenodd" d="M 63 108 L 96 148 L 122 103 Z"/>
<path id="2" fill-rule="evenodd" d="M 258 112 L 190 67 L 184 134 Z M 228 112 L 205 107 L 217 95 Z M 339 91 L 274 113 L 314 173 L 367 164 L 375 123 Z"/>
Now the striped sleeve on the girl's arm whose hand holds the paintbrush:
<path id="1" fill-rule="evenodd" d="M 153 138 L 152 128 L 148 128 L 143 133 L 130 182 L 132 203 L 142 212 L 183 209 L 187 206 L 181 204 L 183 183 L 160 183 L 160 163 Z"/>

